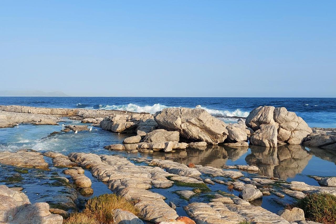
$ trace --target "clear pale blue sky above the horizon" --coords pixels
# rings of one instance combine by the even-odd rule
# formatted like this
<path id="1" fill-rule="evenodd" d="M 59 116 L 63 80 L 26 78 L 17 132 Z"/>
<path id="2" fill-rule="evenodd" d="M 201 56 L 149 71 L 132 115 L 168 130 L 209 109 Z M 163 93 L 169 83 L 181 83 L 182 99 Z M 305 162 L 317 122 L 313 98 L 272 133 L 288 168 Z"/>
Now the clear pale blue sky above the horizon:
<path id="1" fill-rule="evenodd" d="M 336 97 L 336 1 L 2 1 L 0 90 Z"/>

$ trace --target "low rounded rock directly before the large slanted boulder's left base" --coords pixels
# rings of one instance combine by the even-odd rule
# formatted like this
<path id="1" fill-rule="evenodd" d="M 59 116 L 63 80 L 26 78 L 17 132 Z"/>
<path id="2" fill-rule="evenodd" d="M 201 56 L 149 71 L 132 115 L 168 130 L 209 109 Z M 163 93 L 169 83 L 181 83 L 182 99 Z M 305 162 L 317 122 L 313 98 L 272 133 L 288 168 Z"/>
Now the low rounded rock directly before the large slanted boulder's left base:
<path id="1" fill-rule="evenodd" d="M 178 142 L 180 133 L 177 131 L 169 132 L 165 129 L 156 129 L 148 133 L 142 142 Z"/>

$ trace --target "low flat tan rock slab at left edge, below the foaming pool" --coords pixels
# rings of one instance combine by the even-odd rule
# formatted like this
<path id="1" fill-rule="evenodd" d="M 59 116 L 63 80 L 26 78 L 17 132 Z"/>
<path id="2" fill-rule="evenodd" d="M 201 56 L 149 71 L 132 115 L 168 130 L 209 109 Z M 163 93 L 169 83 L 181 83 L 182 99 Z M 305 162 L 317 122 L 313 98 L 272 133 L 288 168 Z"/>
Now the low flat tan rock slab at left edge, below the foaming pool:
<path id="1" fill-rule="evenodd" d="M 0 163 L 12 166 L 48 170 L 48 163 L 39 152 L 19 150 L 17 152 L 0 152 Z"/>

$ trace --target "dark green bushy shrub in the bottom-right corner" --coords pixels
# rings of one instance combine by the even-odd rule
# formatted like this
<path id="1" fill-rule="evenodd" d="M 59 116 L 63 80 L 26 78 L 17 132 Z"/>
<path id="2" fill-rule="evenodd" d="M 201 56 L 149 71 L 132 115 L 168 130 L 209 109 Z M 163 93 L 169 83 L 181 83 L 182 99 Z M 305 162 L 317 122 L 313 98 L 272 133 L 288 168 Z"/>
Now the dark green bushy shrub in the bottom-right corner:
<path id="1" fill-rule="evenodd" d="M 332 194 L 308 194 L 296 203 L 288 206 L 300 208 L 309 221 L 325 224 L 336 223 L 336 196 Z"/>

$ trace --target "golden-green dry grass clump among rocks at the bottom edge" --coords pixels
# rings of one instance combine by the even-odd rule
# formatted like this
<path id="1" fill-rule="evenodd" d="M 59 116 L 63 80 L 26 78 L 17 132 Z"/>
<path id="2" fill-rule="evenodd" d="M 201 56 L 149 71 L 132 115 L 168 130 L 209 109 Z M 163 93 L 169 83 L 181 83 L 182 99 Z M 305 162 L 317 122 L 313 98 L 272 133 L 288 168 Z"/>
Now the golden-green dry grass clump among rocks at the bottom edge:
<path id="1" fill-rule="evenodd" d="M 138 216 L 139 211 L 134 208 L 134 202 L 128 201 L 115 194 L 102 194 L 90 198 L 81 213 L 73 213 L 64 221 L 65 224 L 113 224 L 113 211 L 122 209 Z"/>

